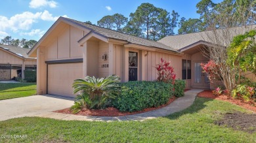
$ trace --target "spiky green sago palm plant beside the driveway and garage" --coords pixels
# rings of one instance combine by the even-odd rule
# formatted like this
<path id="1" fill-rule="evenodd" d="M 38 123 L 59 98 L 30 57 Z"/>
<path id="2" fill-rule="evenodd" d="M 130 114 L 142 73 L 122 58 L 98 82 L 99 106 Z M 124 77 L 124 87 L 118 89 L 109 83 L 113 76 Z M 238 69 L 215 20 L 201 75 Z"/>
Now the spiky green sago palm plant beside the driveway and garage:
<path id="1" fill-rule="evenodd" d="M 114 75 L 106 78 L 86 76 L 85 79 L 74 80 L 73 92 L 79 94 L 71 109 L 79 112 L 83 108 L 104 108 L 110 99 L 119 94 L 119 82 L 120 78 Z"/>

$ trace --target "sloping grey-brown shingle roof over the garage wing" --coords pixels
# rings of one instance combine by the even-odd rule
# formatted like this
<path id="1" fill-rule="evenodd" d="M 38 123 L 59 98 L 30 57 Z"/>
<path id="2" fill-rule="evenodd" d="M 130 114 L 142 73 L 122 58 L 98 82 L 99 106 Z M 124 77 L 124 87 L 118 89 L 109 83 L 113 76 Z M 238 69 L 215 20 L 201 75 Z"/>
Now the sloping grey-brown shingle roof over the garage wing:
<path id="1" fill-rule="evenodd" d="M 60 17 L 63 20 L 67 20 L 69 22 L 72 22 L 76 25 L 80 25 L 82 27 L 87 27 L 89 30 L 94 31 L 100 35 L 103 35 L 106 38 L 110 38 L 110 39 L 118 39 L 118 40 L 125 40 L 127 42 L 129 42 L 129 44 L 139 44 L 142 46 L 149 46 L 149 47 L 154 47 L 154 48 L 161 48 L 161 49 L 165 49 L 165 50 L 171 50 L 174 52 L 177 52 L 177 50 L 175 50 L 175 48 L 172 48 L 171 46 L 166 46 L 165 44 L 162 44 L 160 42 L 156 42 L 154 40 L 146 40 L 140 37 L 135 37 L 133 35 L 128 35 L 125 33 L 121 33 L 118 31 L 114 31 L 114 30 L 110 30 L 110 29 L 106 29 L 103 27 L 98 27 L 96 25 L 92 25 L 92 24 L 87 24 L 85 22 L 79 22 L 77 20 L 72 20 L 70 18 L 64 18 L 64 17 Z"/>

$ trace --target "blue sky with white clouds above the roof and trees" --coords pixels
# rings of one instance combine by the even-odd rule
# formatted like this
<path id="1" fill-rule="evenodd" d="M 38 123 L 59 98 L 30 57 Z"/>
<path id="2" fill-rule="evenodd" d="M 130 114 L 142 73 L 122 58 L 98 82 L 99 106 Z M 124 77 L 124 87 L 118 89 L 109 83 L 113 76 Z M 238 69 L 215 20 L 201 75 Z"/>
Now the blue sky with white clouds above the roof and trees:
<path id="1" fill-rule="evenodd" d="M 115 13 L 129 18 L 141 3 L 152 3 L 168 12 L 175 10 L 180 18 L 199 18 L 198 2 L 200 0 L 5 0 L 0 9 L 0 39 L 9 35 L 14 39 L 39 40 L 59 16 L 93 24 Z"/>

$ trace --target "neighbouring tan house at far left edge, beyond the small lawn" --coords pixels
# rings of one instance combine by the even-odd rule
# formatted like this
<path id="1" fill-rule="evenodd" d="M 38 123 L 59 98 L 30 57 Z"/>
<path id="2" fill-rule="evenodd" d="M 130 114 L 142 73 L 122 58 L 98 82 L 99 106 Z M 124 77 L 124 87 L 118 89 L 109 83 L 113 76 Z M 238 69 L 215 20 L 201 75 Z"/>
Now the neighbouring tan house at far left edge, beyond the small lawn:
<path id="1" fill-rule="evenodd" d="M 24 70 L 36 69 L 37 59 L 28 57 L 28 48 L 0 44 L 0 80 L 24 78 Z"/>

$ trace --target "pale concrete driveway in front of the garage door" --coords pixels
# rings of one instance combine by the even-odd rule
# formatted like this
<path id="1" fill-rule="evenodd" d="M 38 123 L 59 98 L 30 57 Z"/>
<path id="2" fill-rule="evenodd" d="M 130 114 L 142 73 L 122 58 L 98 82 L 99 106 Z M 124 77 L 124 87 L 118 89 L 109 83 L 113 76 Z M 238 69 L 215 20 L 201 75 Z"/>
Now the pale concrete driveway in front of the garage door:
<path id="1" fill-rule="evenodd" d="M 35 116 L 44 112 L 69 108 L 73 104 L 74 99 L 55 95 L 34 95 L 7 99 L 0 101 L 0 121 Z"/>

